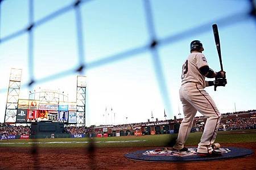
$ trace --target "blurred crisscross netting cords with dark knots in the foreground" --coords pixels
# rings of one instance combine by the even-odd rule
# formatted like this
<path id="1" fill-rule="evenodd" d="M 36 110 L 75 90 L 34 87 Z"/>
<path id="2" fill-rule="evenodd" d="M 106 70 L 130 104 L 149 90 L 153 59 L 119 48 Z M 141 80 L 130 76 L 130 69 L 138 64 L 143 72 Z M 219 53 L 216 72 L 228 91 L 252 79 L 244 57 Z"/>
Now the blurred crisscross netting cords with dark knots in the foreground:
<path id="1" fill-rule="evenodd" d="M 5 25 L 1 24 L 1 9 L 2 9 L 2 3 L 3 1 L 10 1 L 10 0 L 0 0 L 0 33 L 1 33 L 1 28 L 4 27 Z M 236 24 L 238 22 L 242 22 L 246 19 L 249 19 L 251 17 L 256 19 L 256 12 L 255 12 L 255 1 L 250 0 L 251 4 L 251 10 L 250 11 L 245 11 L 245 12 L 238 12 L 237 14 L 229 15 L 229 16 L 224 16 L 223 18 L 217 19 L 217 20 L 211 20 L 209 23 L 205 23 L 202 25 L 198 25 L 195 28 L 189 28 L 186 30 L 183 30 L 179 33 L 176 33 L 175 35 L 170 35 L 166 36 L 162 39 L 159 39 L 156 35 L 155 31 L 155 24 L 154 24 L 154 19 L 153 19 L 153 14 L 152 14 L 152 8 L 151 8 L 151 1 L 144 0 L 143 5 L 144 5 L 144 15 L 146 15 L 146 23 L 147 23 L 147 31 L 148 35 L 150 37 L 150 40 L 148 41 L 147 44 L 144 44 L 142 46 L 134 46 L 131 49 L 125 50 L 123 52 L 119 52 L 116 54 L 113 54 L 111 56 L 105 56 L 102 57 L 101 59 L 98 59 L 96 61 L 92 62 L 86 62 L 86 56 L 85 56 L 85 48 L 84 48 L 84 36 L 82 34 L 82 15 L 81 15 L 81 6 L 86 5 L 86 3 L 93 1 L 93 0 L 77 0 L 74 1 L 73 3 L 64 6 L 60 8 L 57 11 L 52 12 L 51 14 L 44 16 L 42 19 L 39 20 L 34 20 L 34 0 L 29 0 L 28 3 L 28 19 L 29 19 L 29 24 L 27 27 L 20 29 L 19 31 L 13 32 L 10 35 L 2 37 L 0 35 L 0 45 L 3 43 L 10 41 L 12 39 L 15 39 L 16 37 L 22 36 L 24 34 L 28 34 L 28 73 L 30 75 L 29 78 L 30 80 L 26 83 L 26 86 L 28 88 L 32 88 L 34 84 L 39 84 L 39 83 L 44 83 L 44 82 L 49 82 L 51 80 L 63 78 L 65 76 L 74 74 L 74 73 L 84 73 L 85 70 L 89 69 L 97 69 L 97 67 L 101 67 L 104 65 L 107 65 L 112 62 L 116 62 L 119 60 L 127 59 L 127 58 L 132 58 L 135 57 L 137 54 L 142 54 L 146 52 L 150 52 L 152 61 L 154 62 L 154 71 L 156 74 L 156 78 L 158 80 L 158 86 L 159 90 L 161 92 L 162 99 L 164 101 L 164 106 L 166 107 L 167 111 L 170 113 L 171 111 L 171 102 L 170 98 L 168 95 L 168 88 L 167 88 L 167 83 L 166 83 L 166 78 L 163 74 L 163 67 L 162 63 L 160 61 L 160 54 L 158 52 L 158 49 L 161 46 L 164 45 L 170 45 L 172 43 L 175 43 L 177 41 L 181 41 L 183 39 L 186 39 L 188 37 L 192 37 L 195 35 L 199 35 L 204 32 L 211 31 L 209 25 L 212 25 L 212 23 L 218 23 L 221 25 L 221 27 L 226 27 L 232 24 Z M 64 15 L 65 13 L 75 10 L 75 17 L 76 17 L 76 35 L 77 35 L 77 50 L 78 50 L 78 61 L 77 66 L 68 69 L 68 70 L 61 70 L 59 73 L 53 73 L 52 75 L 46 76 L 44 78 L 36 78 L 34 75 L 34 32 L 35 29 L 40 27 L 41 25 L 49 22 L 50 20 L 55 19 L 57 16 Z M 6 92 L 7 88 L 0 89 L 0 93 Z M 34 143 L 36 143 L 36 139 L 34 139 Z M 88 152 L 91 153 L 91 163 L 95 163 L 94 161 L 94 146 L 93 142 L 90 142 L 90 146 L 88 149 Z M 31 154 L 34 155 L 34 158 L 38 158 L 38 150 L 36 149 L 37 145 L 34 144 L 31 149 Z M 40 167 L 39 165 L 39 160 L 34 159 L 34 168 Z M 92 169 L 96 169 L 97 165 L 93 164 L 91 167 Z"/>

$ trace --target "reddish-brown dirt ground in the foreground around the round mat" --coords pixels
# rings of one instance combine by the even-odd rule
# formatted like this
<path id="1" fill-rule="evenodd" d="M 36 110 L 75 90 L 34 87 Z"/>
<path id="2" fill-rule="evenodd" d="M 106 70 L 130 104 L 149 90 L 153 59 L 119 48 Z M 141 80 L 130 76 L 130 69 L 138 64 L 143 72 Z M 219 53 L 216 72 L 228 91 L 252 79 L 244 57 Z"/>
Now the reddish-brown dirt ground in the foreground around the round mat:
<path id="1" fill-rule="evenodd" d="M 256 151 L 256 142 L 222 144 L 222 147 L 245 147 Z M 152 147 L 31 148 L 0 147 L 0 169 L 256 169 L 256 156 L 196 163 L 137 162 L 124 157 L 127 152 Z M 36 157 L 36 158 L 35 158 Z"/>

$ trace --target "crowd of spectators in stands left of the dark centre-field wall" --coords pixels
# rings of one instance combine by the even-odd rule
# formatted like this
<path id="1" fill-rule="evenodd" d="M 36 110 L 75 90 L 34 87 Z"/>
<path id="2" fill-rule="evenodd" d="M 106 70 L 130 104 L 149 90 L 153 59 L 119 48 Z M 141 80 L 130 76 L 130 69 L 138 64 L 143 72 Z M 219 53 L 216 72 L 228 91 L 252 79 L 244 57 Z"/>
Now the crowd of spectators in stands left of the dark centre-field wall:
<path id="1" fill-rule="evenodd" d="M 0 134 L 6 135 L 29 135 L 30 126 L 13 126 L 0 123 Z"/>

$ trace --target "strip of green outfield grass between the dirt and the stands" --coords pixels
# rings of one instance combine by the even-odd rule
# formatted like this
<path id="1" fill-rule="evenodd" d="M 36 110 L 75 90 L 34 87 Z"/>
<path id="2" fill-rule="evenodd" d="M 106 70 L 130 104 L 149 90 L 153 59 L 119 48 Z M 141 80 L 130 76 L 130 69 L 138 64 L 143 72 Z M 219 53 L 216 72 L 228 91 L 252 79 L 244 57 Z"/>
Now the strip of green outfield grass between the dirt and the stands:
<path id="1" fill-rule="evenodd" d="M 189 134 L 186 145 L 197 145 L 202 133 L 196 132 Z M 162 135 L 144 135 L 141 137 L 108 137 L 93 138 L 96 147 L 151 147 L 165 146 L 170 139 L 176 137 L 177 134 Z M 89 138 L 57 138 L 57 139 L 14 139 L 9 141 L 1 141 L 0 147 L 86 147 Z M 246 143 L 256 142 L 256 130 L 246 131 L 218 131 L 216 141 L 218 143 Z"/>

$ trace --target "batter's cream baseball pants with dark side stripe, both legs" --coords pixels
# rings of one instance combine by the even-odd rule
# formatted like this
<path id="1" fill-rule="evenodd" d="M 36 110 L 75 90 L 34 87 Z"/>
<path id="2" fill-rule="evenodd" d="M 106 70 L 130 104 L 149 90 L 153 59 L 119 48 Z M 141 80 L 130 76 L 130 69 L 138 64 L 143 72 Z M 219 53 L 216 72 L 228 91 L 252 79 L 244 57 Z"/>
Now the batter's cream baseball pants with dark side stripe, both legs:
<path id="1" fill-rule="evenodd" d="M 183 104 L 184 118 L 181 122 L 179 135 L 174 148 L 179 150 L 184 147 L 188 134 L 191 131 L 196 112 L 199 111 L 205 117 L 204 132 L 197 147 L 197 152 L 209 153 L 213 151 L 212 144 L 215 141 L 221 113 L 218 111 L 212 97 L 200 84 L 188 82 L 180 87 L 180 100 Z"/>

